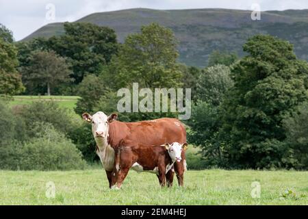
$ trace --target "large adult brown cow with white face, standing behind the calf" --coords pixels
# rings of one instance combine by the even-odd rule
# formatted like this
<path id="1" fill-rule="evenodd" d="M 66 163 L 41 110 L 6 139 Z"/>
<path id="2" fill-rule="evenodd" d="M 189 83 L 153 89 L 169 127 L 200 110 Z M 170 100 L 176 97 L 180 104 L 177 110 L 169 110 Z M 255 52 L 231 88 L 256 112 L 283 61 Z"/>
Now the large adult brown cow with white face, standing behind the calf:
<path id="1" fill-rule="evenodd" d="M 156 120 L 141 121 L 136 123 L 123 123 L 117 121 L 117 115 L 106 116 L 103 112 L 97 112 L 93 116 L 82 114 L 84 120 L 92 123 L 92 134 L 97 142 L 97 155 L 105 168 L 110 188 L 112 186 L 112 170 L 114 168 L 114 149 L 120 140 L 131 140 L 135 143 L 147 145 L 171 144 L 186 142 L 186 130 L 183 124 L 176 118 L 159 118 Z M 186 168 L 185 153 L 181 154 L 181 162 L 174 166 L 179 185 L 183 185 L 183 173 Z M 167 185 L 171 186 L 174 172 L 166 174 Z"/>

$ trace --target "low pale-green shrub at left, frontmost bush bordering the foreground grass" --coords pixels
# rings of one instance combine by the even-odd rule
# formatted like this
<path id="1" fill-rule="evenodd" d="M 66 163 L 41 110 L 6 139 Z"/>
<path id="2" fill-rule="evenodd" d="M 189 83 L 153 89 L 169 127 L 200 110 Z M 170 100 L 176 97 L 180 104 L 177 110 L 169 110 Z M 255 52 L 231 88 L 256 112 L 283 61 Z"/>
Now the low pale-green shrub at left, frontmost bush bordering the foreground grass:
<path id="1" fill-rule="evenodd" d="M 36 138 L 12 141 L 0 147 L 0 168 L 10 170 L 72 170 L 86 168 L 80 151 L 52 125 Z"/>

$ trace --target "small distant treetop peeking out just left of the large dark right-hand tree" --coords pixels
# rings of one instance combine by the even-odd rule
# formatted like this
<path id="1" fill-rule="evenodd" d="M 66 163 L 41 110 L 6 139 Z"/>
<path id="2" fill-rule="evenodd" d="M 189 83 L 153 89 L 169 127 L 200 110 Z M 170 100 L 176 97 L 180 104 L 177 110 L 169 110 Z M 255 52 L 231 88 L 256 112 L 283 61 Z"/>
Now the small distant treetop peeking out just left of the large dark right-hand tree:
<path id="1" fill-rule="evenodd" d="M 223 64 L 224 66 L 231 66 L 236 60 L 238 60 L 238 55 L 236 53 L 229 53 L 226 51 L 220 52 L 214 50 L 209 55 L 209 60 L 207 66 L 215 66 L 216 64 Z"/>

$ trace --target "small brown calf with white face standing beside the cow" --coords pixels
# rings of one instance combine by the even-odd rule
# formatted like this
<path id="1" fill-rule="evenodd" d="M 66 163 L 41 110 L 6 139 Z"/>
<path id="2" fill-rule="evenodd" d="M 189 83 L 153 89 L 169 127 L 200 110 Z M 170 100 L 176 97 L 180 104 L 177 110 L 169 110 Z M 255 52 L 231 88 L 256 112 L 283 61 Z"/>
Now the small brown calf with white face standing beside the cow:
<path id="1" fill-rule="evenodd" d="M 155 173 L 159 184 L 165 186 L 166 173 L 172 171 L 175 162 L 181 162 L 182 151 L 187 147 L 187 143 L 178 142 L 149 146 L 138 142 L 121 141 L 115 150 L 112 188 L 121 187 L 129 169 Z"/>

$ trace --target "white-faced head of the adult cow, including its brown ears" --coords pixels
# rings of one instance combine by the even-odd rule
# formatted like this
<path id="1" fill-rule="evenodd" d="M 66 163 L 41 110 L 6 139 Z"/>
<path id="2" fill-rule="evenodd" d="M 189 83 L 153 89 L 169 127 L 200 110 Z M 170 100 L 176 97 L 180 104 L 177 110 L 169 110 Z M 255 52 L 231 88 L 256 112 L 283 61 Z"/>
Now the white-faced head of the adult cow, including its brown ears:
<path id="1" fill-rule="evenodd" d="M 106 116 L 103 112 L 97 112 L 93 116 L 88 113 L 82 114 L 82 118 L 88 121 L 88 123 L 92 123 L 92 134 L 94 138 L 106 138 L 109 129 L 109 123 L 116 120 L 117 115 L 111 114 L 110 116 Z"/>

